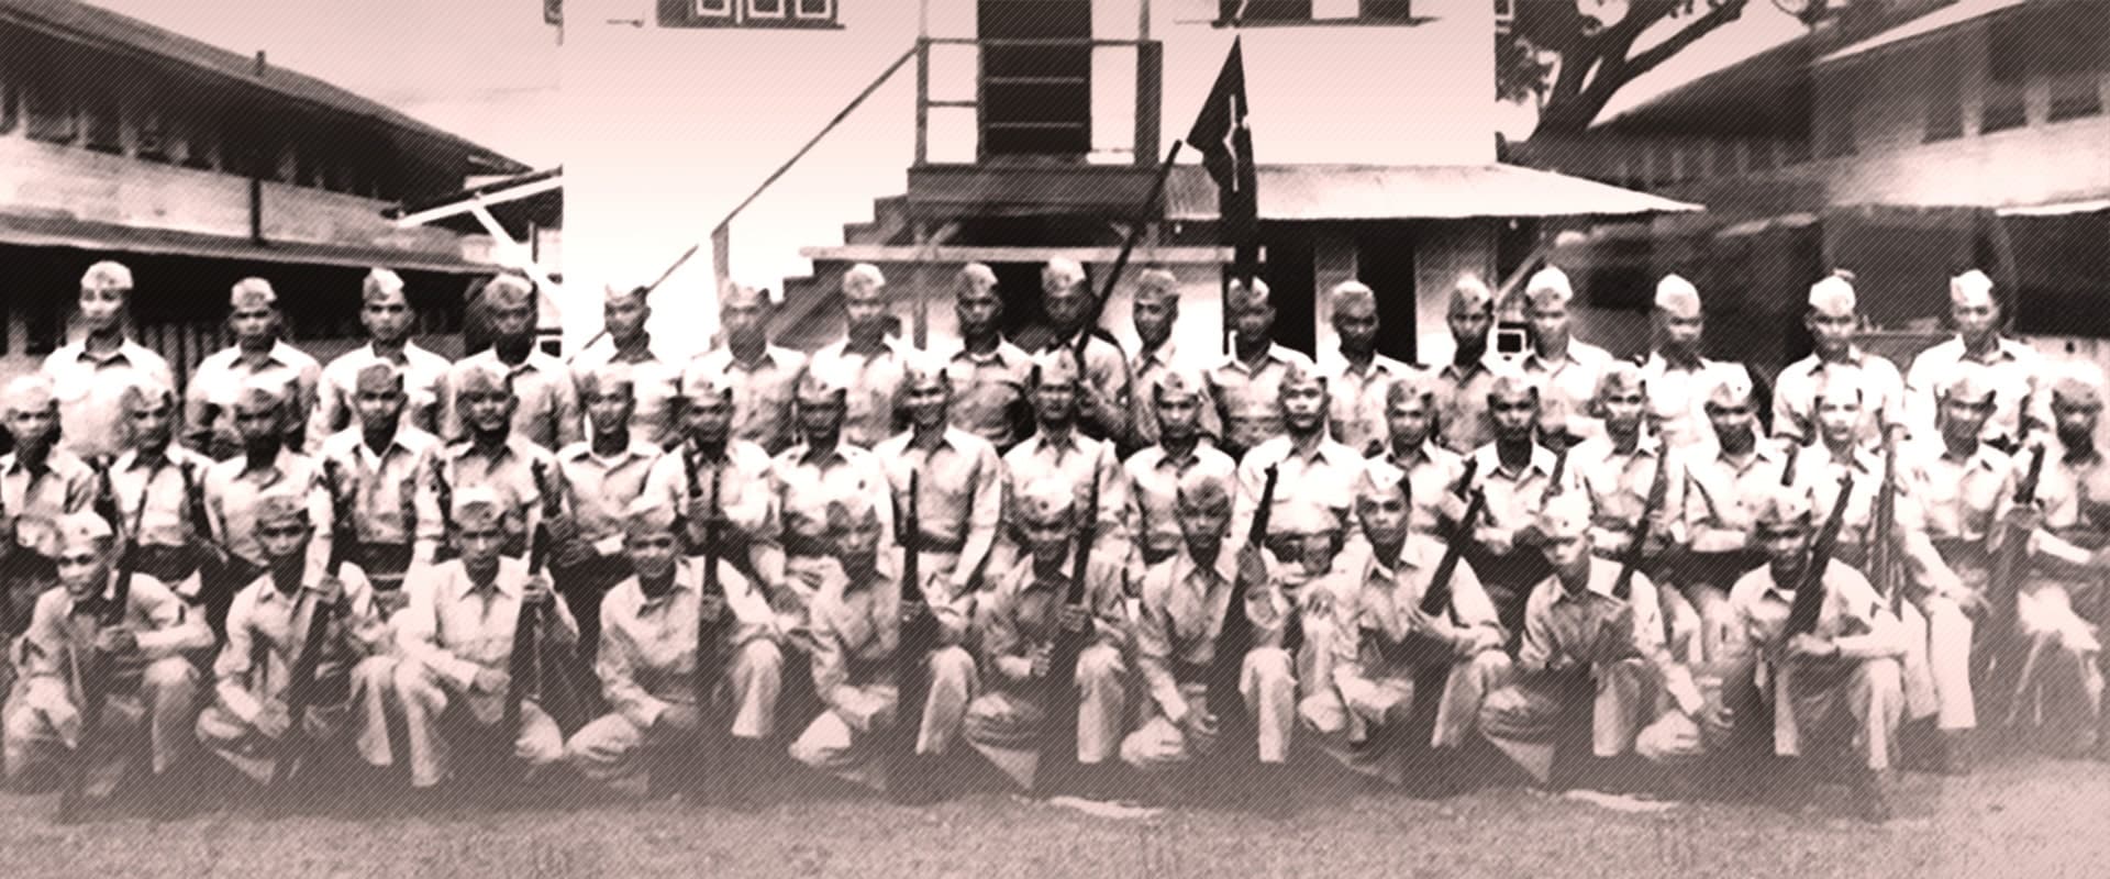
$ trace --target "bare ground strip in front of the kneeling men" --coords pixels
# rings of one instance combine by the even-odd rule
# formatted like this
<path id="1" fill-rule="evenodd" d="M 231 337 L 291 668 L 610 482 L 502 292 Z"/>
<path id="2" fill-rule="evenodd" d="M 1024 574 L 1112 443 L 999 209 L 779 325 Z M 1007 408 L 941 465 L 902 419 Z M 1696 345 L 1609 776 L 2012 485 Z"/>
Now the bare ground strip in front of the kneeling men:
<path id="1" fill-rule="evenodd" d="M 1996 742 L 1998 744 L 1998 742 Z M 1842 788 L 1815 807 L 1677 803 L 1625 812 L 1519 786 L 1414 799 L 1296 763 L 1293 814 L 1179 805 L 1104 818 L 994 784 L 931 807 L 850 788 L 793 788 L 755 812 L 679 801 L 591 805 L 456 797 L 395 784 L 310 784 L 285 801 L 179 790 L 188 812 L 51 820 L 55 795 L 0 795 L 8 877 L 2104 877 L 2110 765 L 1988 755 L 1969 778 L 1899 776 L 1897 818 L 1853 820 Z M 572 795 L 576 797 L 576 795 Z"/>

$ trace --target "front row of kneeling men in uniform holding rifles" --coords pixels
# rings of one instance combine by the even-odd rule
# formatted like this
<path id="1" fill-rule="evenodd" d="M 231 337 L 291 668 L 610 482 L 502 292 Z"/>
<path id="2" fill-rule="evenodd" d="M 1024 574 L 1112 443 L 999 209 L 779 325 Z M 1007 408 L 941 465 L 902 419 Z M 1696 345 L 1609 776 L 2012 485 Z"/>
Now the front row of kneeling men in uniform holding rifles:
<path id="1" fill-rule="evenodd" d="M 627 790 L 648 790 L 656 774 L 707 750 L 720 765 L 741 767 L 730 771 L 741 778 L 764 759 L 787 658 L 802 656 L 821 708 L 791 755 L 876 788 L 905 782 L 890 780 L 890 769 L 928 771 L 926 761 L 958 742 L 1034 788 L 1038 763 L 1070 755 L 1072 723 L 1074 759 L 1087 769 L 1080 778 L 1099 782 L 1116 759 L 1160 769 L 1224 748 L 1279 767 L 1300 725 L 1346 765 L 1397 782 L 1420 765 L 1403 755 L 1414 750 L 1405 738 L 1414 736 L 1416 689 L 1428 685 L 1439 687 L 1424 696 L 1437 702 L 1428 744 L 1456 750 L 1477 727 L 1540 780 L 1566 723 L 1585 710 L 1593 755 L 1639 750 L 1652 761 L 1692 761 L 1730 742 L 1730 729 L 1768 723 L 1779 755 L 1808 753 L 1810 742 L 1850 746 L 1869 769 L 1855 776 L 1863 812 L 1884 814 L 1874 771 L 1888 765 L 1901 715 L 1905 637 L 1867 580 L 1844 563 L 1823 575 L 1815 628 L 1785 632 L 1796 590 L 1806 588 L 1806 491 L 1777 489 L 1753 502 L 1756 544 L 1770 561 L 1730 590 L 1737 622 L 1728 653 L 1745 670 L 1722 675 L 1724 687 L 1713 694 L 1667 649 L 1646 575 L 1623 590 L 1620 565 L 1591 552 L 1591 506 L 1580 491 L 1547 500 L 1532 523 L 1551 575 L 1530 592 L 1513 656 L 1502 649 L 1502 626 L 1469 565 L 1435 582 L 1443 544 L 1409 533 L 1401 481 L 1365 476 L 1357 493 L 1361 540 L 1350 540 L 1353 548 L 1323 573 L 1304 575 L 1302 594 L 1287 594 L 1285 584 L 1300 578 L 1232 540 L 1230 481 L 1190 472 L 1177 485 L 1182 546 L 1148 569 L 1139 601 L 1131 601 L 1123 561 L 1093 556 L 1078 565 L 1080 514 L 1070 487 L 1028 485 L 1017 500 L 1023 556 L 977 597 L 971 620 L 952 609 L 937 613 L 937 637 L 916 664 L 924 677 L 920 710 L 901 704 L 895 653 L 905 649 L 903 622 L 931 607 L 901 601 L 901 559 L 882 546 L 869 502 L 831 504 L 831 556 L 812 599 L 793 607 L 772 605 L 736 559 L 715 561 L 711 575 L 703 559 L 684 556 L 675 512 L 646 500 L 625 514 L 635 575 L 601 603 L 595 672 L 608 712 L 576 729 L 544 710 L 549 670 L 509 706 L 517 620 L 534 620 L 540 639 L 557 647 L 576 641 L 578 624 L 553 601 L 546 575 L 500 554 L 513 510 L 487 489 L 452 497 L 458 556 L 420 569 L 405 584 L 407 605 L 392 613 L 357 565 L 331 573 L 312 563 L 304 497 L 266 495 L 257 533 L 270 565 L 234 599 L 203 712 L 194 653 L 211 647 L 205 622 L 150 575 L 133 573 L 120 588 L 112 529 L 95 514 L 72 514 L 57 535 L 63 588 L 36 603 L 19 647 L 25 672 L 6 704 L 6 771 L 23 780 L 59 767 L 95 738 L 110 742 L 89 750 L 97 761 L 93 778 L 103 780 L 99 793 L 108 793 L 120 761 L 139 750 L 127 742 L 146 738 L 156 774 L 198 742 L 264 782 L 283 761 L 314 759 L 331 746 L 342 753 L 350 740 L 361 761 L 401 759 L 411 784 L 428 788 L 458 765 L 452 750 L 492 750 L 492 742 L 509 740 L 511 753 L 534 767 L 570 763 L 584 778 Z M 1304 521 L 1283 527 L 1323 531 L 1329 510 L 1291 504 L 1285 514 Z M 1087 584 L 1072 590 L 1078 571 Z M 1431 588 L 1450 590 L 1445 607 L 1422 607 Z M 124 607 L 114 613 L 108 603 L 120 590 Z M 523 603 L 540 611 L 523 616 Z M 1300 649 L 1327 651 L 1325 662 L 1285 649 L 1300 626 L 1296 607 L 1306 630 Z M 316 645 L 306 710 L 291 717 L 289 689 L 314 613 L 331 620 Z M 1217 637 L 1232 618 L 1243 620 L 1247 637 L 1245 656 L 1232 658 L 1234 704 L 1224 704 L 1211 700 L 1207 683 Z M 711 626 L 715 639 L 707 643 L 698 626 Z M 1059 647 L 1066 639 L 1074 639 L 1070 651 Z M 82 668 L 97 653 L 114 658 L 112 670 L 84 681 Z M 1059 668 L 1063 653 L 1074 668 Z M 1327 668 L 1327 679 L 1298 681 L 1296 666 Z M 701 681 L 713 683 L 709 691 Z M 106 702 L 97 729 L 82 729 L 84 685 Z M 1756 685 L 1764 696 L 1753 704 L 1766 710 L 1724 708 L 1739 704 L 1741 685 Z M 1232 725 L 1239 715 L 1249 719 L 1243 727 Z M 918 725 L 901 746 L 916 755 L 912 761 L 890 759 L 888 734 L 901 723 Z M 401 755 L 390 744 L 392 725 L 401 729 Z"/>

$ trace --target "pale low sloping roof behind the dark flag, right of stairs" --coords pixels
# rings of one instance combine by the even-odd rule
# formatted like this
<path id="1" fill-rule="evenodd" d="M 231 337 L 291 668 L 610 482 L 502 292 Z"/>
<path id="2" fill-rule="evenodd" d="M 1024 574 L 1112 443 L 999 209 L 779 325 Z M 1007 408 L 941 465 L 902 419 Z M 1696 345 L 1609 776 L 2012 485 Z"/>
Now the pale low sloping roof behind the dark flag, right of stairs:
<path id="1" fill-rule="evenodd" d="M 1215 219 L 1215 181 L 1177 167 L 1169 219 Z M 1631 217 L 1701 211 L 1646 192 L 1517 164 L 1262 164 L 1260 219 Z"/>

